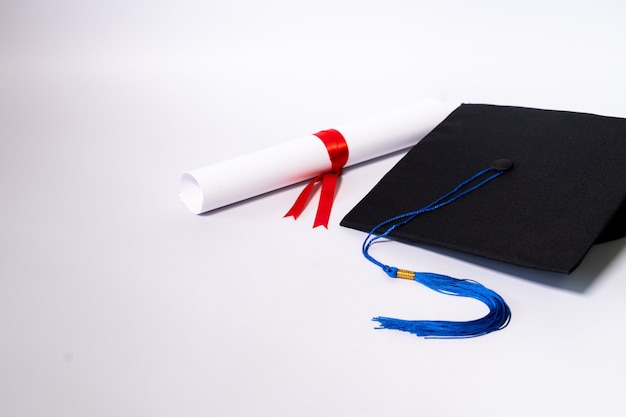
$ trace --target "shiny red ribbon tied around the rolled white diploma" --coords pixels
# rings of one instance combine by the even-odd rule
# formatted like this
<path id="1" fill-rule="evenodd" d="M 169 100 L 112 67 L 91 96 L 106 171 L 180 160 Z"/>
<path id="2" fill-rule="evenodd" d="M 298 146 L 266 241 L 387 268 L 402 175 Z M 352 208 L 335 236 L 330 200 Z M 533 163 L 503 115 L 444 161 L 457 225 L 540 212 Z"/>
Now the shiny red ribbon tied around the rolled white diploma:
<path id="1" fill-rule="evenodd" d="M 320 194 L 320 201 L 317 206 L 317 214 L 315 215 L 313 228 L 324 226 L 328 229 L 328 219 L 330 218 L 330 210 L 335 198 L 337 178 L 341 175 L 343 166 L 348 162 L 348 144 L 343 135 L 335 129 L 322 130 L 321 132 L 317 132 L 315 136 L 320 138 L 326 146 L 331 163 L 330 171 L 313 178 L 311 182 L 304 187 L 304 190 L 302 190 L 291 209 L 285 214 L 285 217 L 293 216 L 294 219 L 297 219 L 304 211 L 304 207 L 313 192 L 313 187 L 321 181 L 322 192 Z"/>

